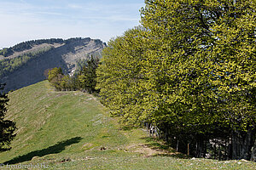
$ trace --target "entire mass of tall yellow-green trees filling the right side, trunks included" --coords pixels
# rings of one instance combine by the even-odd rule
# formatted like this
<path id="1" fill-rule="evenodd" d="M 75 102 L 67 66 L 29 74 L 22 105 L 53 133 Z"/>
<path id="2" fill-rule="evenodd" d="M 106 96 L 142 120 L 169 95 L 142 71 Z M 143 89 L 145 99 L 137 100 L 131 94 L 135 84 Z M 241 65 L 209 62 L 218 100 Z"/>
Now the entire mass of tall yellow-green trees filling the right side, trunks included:
<path id="1" fill-rule="evenodd" d="M 142 26 L 103 50 L 102 103 L 127 124 L 154 124 L 178 151 L 253 157 L 256 2 L 145 3 Z"/>

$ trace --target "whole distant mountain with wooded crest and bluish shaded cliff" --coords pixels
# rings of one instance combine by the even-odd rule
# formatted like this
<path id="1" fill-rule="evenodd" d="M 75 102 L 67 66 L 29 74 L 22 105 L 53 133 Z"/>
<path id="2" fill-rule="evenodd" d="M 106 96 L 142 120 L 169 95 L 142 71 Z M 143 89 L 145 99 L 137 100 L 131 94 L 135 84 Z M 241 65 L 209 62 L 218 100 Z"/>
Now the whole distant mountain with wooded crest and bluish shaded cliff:
<path id="1" fill-rule="evenodd" d="M 87 38 L 46 39 L 21 42 L 0 50 L 0 82 L 6 91 L 26 87 L 44 80 L 44 71 L 61 67 L 66 73 L 77 68 L 77 62 L 90 54 L 101 57 L 106 43 Z"/>

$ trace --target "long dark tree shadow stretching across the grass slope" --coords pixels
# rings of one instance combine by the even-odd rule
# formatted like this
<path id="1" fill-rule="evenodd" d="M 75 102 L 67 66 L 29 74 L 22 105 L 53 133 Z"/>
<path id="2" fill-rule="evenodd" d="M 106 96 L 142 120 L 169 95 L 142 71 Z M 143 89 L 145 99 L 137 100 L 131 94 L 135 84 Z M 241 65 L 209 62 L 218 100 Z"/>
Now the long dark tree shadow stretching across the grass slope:
<path id="1" fill-rule="evenodd" d="M 75 137 L 73 139 L 67 139 L 67 140 L 63 140 L 61 142 L 58 142 L 55 145 L 49 146 L 48 148 L 45 148 L 43 150 L 35 150 L 32 151 L 26 155 L 23 156 L 17 156 L 14 159 L 10 160 L 10 161 L 5 161 L 3 164 L 16 164 L 16 163 L 20 163 L 23 161 L 31 161 L 32 157 L 34 156 L 46 156 L 49 154 L 56 154 L 56 153 L 60 153 L 62 150 L 65 150 L 65 147 L 71 144 L 77 144 L 79 143 L 79 141 L 83 139 L 81 137 Z"/>

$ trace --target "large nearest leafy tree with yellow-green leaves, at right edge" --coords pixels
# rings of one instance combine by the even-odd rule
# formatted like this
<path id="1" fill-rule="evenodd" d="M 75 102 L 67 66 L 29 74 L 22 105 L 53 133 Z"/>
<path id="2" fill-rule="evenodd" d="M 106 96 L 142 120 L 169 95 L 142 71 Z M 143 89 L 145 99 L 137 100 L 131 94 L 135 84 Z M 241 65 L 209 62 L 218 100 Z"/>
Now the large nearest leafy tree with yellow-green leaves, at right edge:
<path id="1" fill-rule="evenodd" d="M 248 159 L 255 139 L 255 1 L 146 1 L 142 24 L 154 44 L 148 68 L 159 63 L 164 72 L 156 111 L 163 130 L 195 133 L 188 143 L 196 146 L 197 139 L 228 136 L 229 156 Z"/>

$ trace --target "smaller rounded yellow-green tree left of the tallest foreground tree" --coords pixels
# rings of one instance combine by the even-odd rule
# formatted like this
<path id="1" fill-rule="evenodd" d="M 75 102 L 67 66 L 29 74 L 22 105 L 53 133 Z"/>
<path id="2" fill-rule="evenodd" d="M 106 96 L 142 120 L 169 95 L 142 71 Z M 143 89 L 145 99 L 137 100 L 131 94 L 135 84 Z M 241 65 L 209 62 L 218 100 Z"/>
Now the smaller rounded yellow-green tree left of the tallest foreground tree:
<path id="1" fill-rule="evenodd" d="M 108 42 L 103 49 L 102 65 L 97 69 L 97 88 L 101 89 L 102 103 L 108 105 L 113 116 L 122 116 L 125 122 L 141 123 L 147 103 L 143 97 L 148 90 L 147 71 L 144 70 L 145 41 L 142 28 L 125 31 L 123 37 Z"/>

